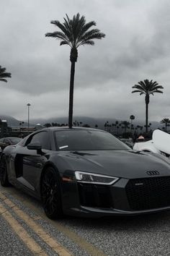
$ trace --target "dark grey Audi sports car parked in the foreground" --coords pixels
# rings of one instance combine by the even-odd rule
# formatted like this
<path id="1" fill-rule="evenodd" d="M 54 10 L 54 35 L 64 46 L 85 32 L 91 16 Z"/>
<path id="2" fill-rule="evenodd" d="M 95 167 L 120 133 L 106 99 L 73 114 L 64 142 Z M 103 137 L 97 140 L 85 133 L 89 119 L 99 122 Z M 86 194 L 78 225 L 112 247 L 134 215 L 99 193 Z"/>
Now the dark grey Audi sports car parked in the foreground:
<path id="1" fill-rule="evenodd" d="M 170 210 L 170 163 L 99 129 L 53 127 L 4 149 L 2 186 L 42 200 L 49 218 Z"/>

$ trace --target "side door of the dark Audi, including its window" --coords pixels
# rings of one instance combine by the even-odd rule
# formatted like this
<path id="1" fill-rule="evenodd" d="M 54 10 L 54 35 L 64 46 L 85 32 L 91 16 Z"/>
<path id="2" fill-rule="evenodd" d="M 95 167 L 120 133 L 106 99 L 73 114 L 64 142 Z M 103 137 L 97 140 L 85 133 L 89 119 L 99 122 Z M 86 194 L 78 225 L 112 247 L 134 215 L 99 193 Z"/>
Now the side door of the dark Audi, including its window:
<path id="1" fill-rule="evenodd" d="M 37 150 L 29 150 L 28 144 L 40 142 L 42 153 Z M 48 131 L 37 132 L 30 136 L 22 149 L 21 154 L 17 154 L 15 159 L 15 173 L 17 181 L 27 189 L 37 191 L 40 185 L 40 175 L 43 166 L 48 160 L 50 151 L 50 137 Z"/>

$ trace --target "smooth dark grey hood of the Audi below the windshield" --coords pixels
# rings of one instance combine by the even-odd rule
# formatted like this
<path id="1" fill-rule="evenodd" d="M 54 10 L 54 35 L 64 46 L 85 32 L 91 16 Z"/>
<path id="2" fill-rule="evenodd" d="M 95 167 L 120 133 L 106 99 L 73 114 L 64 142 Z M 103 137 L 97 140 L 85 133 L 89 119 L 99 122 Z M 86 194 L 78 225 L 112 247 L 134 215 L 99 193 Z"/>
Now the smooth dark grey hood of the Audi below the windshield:
<path id="1" fill-rule="evenodd" d="M 66 153 L 65 157 L 74 171 L 127 179 L 149 177 L 147 171 L 158 171 L 160 176 L 170 175 L 170 162 L 164 156 L 134 150 L 74 151 Z"/>

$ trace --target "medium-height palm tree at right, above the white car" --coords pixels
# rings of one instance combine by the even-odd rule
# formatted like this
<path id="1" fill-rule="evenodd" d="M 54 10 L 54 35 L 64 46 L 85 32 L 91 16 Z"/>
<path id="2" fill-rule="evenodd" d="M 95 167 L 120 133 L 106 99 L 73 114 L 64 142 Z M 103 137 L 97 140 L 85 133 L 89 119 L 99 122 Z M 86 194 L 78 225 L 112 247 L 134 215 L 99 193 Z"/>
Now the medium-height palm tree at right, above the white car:
<path id="1" fill-rule="evenodd" d="M 153 95 L 153 93 L 163 93 L 159 89 L 164 89 L 162 85 L 158 85 L 158 82 L 148 79 L 144 81 L 138 82 L 138 85 L 133 85 L 134 89 L 132 93 L 140 93 L 140 95 L 145 94 L 145 101 L 146 101 L 146 132 L 148 132 L 148 104 L 150 100 L 150 95 Z"/>

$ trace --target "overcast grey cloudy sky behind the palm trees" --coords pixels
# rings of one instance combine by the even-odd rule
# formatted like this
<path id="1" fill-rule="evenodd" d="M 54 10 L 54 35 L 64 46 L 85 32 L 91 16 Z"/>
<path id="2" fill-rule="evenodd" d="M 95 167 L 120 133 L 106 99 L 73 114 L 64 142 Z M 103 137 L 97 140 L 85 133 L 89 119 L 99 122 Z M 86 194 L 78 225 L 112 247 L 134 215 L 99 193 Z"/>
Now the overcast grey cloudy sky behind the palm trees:
<path id="1" fill-rule="evenodd" d="M 0 65 L 12 73 L 0 82 L 0 114 L 27 119 L 68 116 L 69 46 L 45 33 L 80 13 L 105 33 L 81 46 L 76 63 L 74 116 L 145 119 L 140 80 L 156 80 L 164 94 L 151 96 L 149 121 L 170 118 L 169 0 L 1 0 Z"/>

